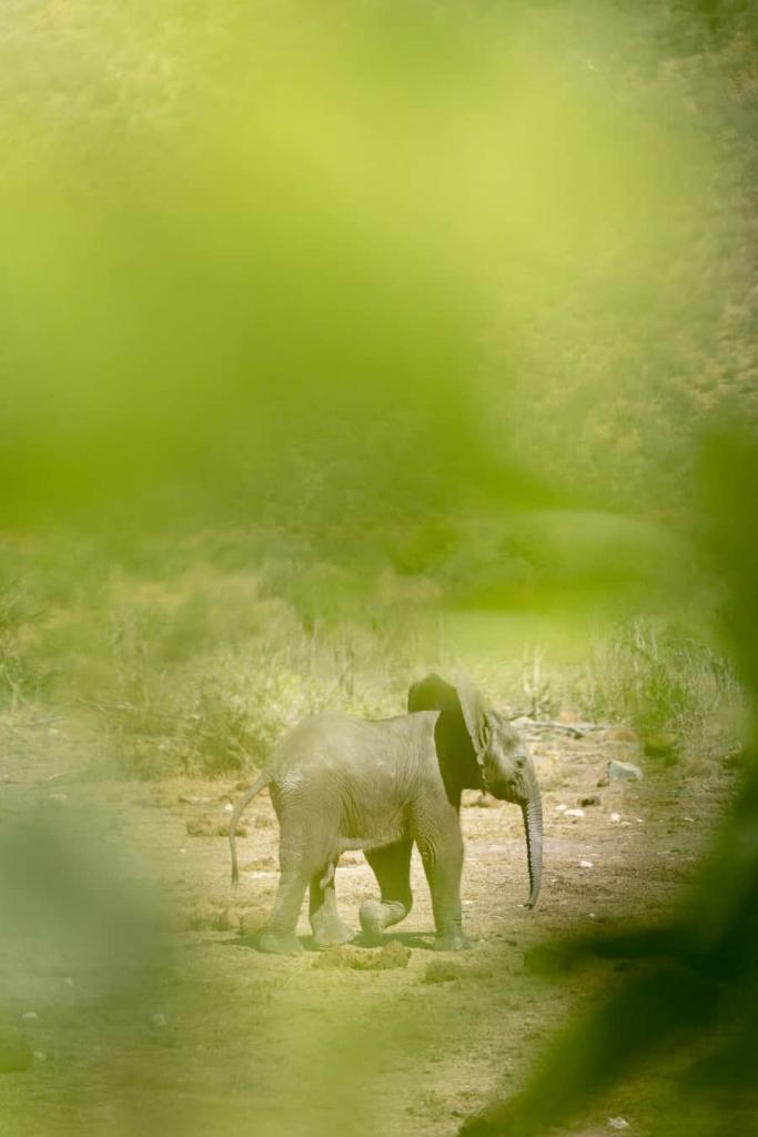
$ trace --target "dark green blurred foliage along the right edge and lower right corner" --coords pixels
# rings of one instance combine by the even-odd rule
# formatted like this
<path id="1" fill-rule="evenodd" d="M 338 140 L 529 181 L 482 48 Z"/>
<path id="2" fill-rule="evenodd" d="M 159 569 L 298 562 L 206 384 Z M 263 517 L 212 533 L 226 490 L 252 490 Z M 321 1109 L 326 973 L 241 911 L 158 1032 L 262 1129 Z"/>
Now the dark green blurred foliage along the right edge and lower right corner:
<path id="1" fill-rule="evenodd" d="M 599 1005 L 565 1027 L 519 1094 L 467 1121 L 461 1137 L 526 1137 L 557 1122 L 565 1126 L 617 1079 L 658 1062 L 672 1047 L 686 1062 L 658 1104 L 658 1132 L 716 1137 L 726 1128 L 751 1131 L 755 1126 L 758 653 L 751 617 L 758 574 L 758 447 L 739 434 L 724 437 L 711 445 L 701 473 L 703 554 L 722 573 L 723 631 L 750 696 L 750 749 L 738 799 L 670 922 L 577 938 L 538 953 L 539 965 L 564 971 L 592 955 L 631 958 L 638 966 Z"/>

